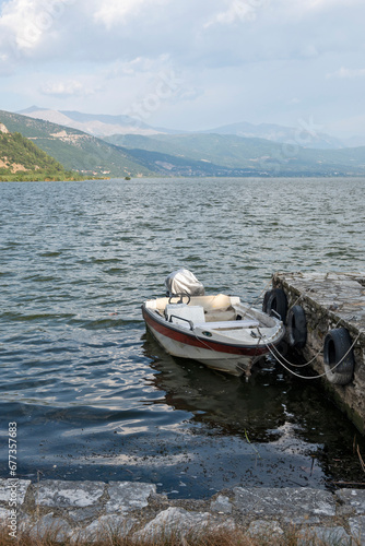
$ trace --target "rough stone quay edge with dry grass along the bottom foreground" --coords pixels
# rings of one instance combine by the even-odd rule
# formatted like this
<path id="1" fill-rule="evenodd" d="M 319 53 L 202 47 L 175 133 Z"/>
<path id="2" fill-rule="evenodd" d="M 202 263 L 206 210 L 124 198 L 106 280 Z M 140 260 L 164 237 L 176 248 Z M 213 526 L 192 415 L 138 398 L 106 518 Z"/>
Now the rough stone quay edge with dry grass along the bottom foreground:
<path id="1" fill-rule="evenodd" d="M 9 532 L 13 526 L 16 537 L 25 531 L 67 544 L 101 537 L 111 544 L 116 534 L 151 543 L 172 534 L 184 544 L 193 533 L 280 537 L 294 529 L 303 546 L 350 546 L 365 544 L 365 490 L 240 486 L 209 499 L 172 500 L 138 482 L 0 479 L 0 522 Z"/>

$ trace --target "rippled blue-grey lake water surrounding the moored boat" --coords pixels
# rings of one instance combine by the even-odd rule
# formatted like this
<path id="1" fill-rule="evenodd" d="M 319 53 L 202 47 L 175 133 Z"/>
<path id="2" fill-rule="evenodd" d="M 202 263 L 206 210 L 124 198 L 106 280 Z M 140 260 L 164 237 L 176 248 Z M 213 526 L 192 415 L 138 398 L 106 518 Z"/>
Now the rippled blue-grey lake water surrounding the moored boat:
<path id="1" fill-rule="evenodd" d="M 363 483 L 364 438 L 317 381 L 167 356 L 140 306 L 186 266 L 258 298 L 274 271 L 365 271 L 365 179 L 0 185 L 1 477 L 235 485 Z M 260 305 L 260 304 L 259 304 Z"/>

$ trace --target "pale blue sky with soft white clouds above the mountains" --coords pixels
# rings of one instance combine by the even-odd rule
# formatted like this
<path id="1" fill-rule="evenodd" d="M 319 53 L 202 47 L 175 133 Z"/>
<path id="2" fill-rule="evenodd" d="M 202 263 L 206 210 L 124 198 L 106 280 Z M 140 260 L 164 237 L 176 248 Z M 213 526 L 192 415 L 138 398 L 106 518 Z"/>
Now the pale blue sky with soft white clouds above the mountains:
<path id="1" fill-rule="evenodd" d="M 365 135 L 364 0 L 0 0 L 0 109 Z"/>

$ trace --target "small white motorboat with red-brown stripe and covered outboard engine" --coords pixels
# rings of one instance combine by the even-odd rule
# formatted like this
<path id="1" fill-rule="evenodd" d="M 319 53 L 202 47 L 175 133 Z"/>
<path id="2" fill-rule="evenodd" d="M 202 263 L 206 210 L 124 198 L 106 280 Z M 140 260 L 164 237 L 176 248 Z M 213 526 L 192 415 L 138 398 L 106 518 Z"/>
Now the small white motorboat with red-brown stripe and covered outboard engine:
<path id="1" fill-rule="evenodd" d="M 237 296 L 207 296 L 188 270 L 165 280 L 167 296 L 142 305 L 143 319 L 173 356 L 191 358 L 233 376 L 250 376 L 254 364 L 282 341 L 283 322 Z"/>

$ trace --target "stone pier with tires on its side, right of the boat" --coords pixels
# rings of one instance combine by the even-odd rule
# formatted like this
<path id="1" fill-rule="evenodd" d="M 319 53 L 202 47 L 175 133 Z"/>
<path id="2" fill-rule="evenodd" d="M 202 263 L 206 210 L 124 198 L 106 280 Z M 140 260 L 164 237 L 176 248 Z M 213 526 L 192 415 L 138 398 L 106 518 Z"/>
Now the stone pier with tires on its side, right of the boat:
<path id="1" fill-rule="evenodd" d="M 275 273 L 273 288 L 284 290 L 287 308 L 305 312 L 307 339 L 294 352 L 311 361 L 318 381 L 337 405 L 365 434 L 365 273 Z M 348 384 L 333 384 L 326 375 L 323 344 L 329 331 L 344 328 L 352 341 L 354 370 Z M 287 340 L 289 341 L 289 340 Z"/>

